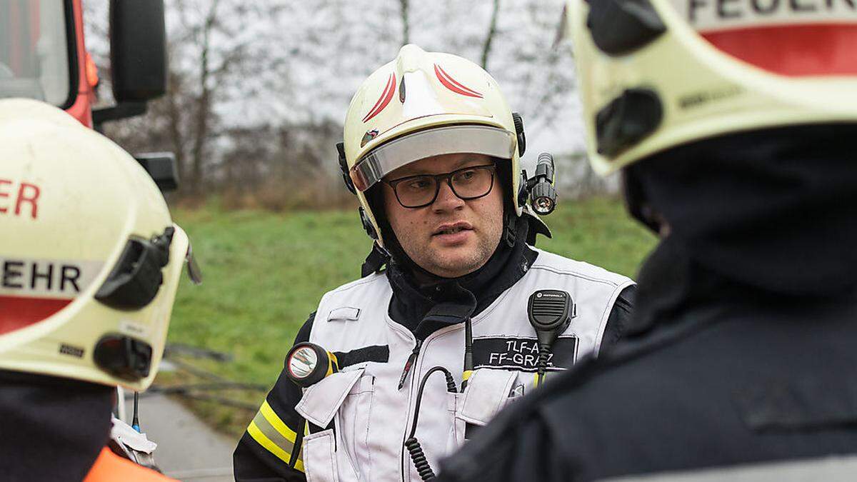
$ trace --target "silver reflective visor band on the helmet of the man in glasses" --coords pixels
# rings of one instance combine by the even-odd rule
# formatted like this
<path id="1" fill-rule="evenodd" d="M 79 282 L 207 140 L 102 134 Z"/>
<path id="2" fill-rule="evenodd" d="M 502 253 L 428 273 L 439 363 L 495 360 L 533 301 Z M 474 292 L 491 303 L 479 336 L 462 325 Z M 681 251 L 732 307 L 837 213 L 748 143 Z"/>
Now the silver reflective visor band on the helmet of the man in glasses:
<path id="1" fill-rule="evenodd" d="M 442 154 L 473 153 L 512 159 L 515 135 L 488 125 L 452 125 L 420 130 L 375 148 L 351 168 L 358 190 L 368 190 L 401 166 Z"/>

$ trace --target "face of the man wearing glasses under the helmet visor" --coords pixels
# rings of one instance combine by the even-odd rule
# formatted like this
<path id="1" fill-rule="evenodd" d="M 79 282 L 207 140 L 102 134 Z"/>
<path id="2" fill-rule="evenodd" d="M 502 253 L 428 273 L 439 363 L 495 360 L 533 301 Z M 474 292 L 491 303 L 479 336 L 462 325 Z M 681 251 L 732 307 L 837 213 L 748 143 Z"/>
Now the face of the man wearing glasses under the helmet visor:
<path id="1" fill-rule="evenodd" d="M 417 174 L 442 174 L 493 161 L 482 154 L 443 154 L 417 160 L 391 172 L 388 181 Z M 429 273 L 458 278 L 482 268 L 494 254 L 503 232 L 503 190 L 494 175 L 487 196 L 464 201 L 440 181 L 437 199 L 424 208 L 404 208 L 387 184 L 387 220 L 405 253 Z"/>

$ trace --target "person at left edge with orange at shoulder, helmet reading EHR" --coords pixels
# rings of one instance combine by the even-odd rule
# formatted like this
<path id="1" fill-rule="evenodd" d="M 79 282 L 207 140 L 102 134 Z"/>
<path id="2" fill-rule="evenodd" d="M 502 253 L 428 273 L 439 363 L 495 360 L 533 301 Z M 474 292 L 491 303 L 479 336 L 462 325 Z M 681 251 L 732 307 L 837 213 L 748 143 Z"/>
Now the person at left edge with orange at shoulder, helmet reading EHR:
<path id="1" fill-rule="evenodd" d="M 187 236 L 129 154 L 56 107 L 0 100 L 0 159 L 3 480 L 167 479 L 107 445 L 117 386 L 158 371 Z"/>

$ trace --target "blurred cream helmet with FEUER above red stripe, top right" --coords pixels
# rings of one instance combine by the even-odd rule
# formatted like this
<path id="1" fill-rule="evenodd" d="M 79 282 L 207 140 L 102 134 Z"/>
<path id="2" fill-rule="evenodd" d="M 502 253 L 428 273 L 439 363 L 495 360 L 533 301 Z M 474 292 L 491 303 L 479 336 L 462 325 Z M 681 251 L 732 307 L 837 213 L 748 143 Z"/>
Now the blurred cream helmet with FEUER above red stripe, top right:
<path id="1" fill-rule="evenodd" d="M 852 0 L 570 0 L 596 172 L 746 130 L 857 121 Z"/>

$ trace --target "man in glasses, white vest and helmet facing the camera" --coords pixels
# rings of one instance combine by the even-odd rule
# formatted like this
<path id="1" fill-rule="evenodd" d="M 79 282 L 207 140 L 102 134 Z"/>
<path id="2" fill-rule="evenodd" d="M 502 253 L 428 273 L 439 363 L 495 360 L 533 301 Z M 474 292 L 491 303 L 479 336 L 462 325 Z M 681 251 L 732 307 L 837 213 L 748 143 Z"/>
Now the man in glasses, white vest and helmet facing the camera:
<path id="1" fill-rule="evenodd" d="M 363 82 L 339 154 L 374 248 L 297 335 L 237 480 L 428 478 L 545 371 L 618 338 L 632 280 L 532 246 L 547 229 L 524 204 L 553 174 L 524 182 L 523 153 L 520 117 L 464 58 L 405 45 Z"/>

